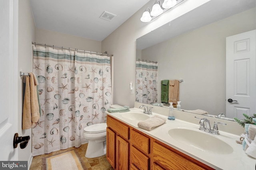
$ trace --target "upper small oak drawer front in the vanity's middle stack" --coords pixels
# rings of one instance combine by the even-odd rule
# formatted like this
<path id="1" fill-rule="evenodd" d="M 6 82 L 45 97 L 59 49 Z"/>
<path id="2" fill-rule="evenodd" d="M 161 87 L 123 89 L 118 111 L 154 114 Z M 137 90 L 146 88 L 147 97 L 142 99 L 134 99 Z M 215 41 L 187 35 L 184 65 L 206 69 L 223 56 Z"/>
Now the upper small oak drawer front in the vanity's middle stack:
<path id="1" fill-rule="evenodd" d="M 130 142 L 132 146 L 135 146 L 140 151 L 149 154 L 150 139 L 148 137 L 132 129 L 130 131 Z"/>

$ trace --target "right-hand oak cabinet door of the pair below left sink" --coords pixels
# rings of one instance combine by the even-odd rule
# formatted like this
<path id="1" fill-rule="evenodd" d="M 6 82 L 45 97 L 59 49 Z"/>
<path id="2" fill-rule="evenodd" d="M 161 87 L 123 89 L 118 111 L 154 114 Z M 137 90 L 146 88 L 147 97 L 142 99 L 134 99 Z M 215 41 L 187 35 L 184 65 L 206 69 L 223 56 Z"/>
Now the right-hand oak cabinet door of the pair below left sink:
<path id="1" fill-rule="evenodd" d="M 116 136 L 116 170 L 129 169 L 129 143 Z"/>

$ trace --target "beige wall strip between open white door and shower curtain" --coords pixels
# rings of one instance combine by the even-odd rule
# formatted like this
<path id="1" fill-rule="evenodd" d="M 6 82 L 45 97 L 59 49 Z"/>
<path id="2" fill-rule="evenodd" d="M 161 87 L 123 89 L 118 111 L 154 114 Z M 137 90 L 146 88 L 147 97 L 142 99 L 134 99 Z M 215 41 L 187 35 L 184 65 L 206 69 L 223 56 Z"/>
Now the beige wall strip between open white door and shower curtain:
<path id="1" fill-rule="evenodd" d="M 32 45 L 31 41 L 36 39 L 36 26 L 30 9 L 30 1 L 19 1 L 18 7 L 18 70 L 23 72 L 33 71 Z M 18 74 L 18 72 L 17 72 Z M 22 105 L 23 105 L 23 83 L 18 77 L 18 134 L 19 136 L 30 136 L 30 141 L 25 149 L 18 146 L 18 160 L 32 160 L 32 131 L 31 129 L 22 130 Z"/>

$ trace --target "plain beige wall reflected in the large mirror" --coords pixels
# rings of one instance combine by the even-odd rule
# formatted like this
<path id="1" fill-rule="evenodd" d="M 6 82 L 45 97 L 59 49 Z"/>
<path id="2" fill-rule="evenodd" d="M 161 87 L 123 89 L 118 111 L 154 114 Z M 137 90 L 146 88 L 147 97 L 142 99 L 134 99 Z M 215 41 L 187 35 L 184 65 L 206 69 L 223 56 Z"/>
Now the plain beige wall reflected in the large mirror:
<path id="1" fill-rule="evenodd" d="M 226 113 L 226 37 L 253 29 L 255 8 L 142 50 L 158 62 L 158 101 L 160 80 L 183 79 L 182 109 Z"/>

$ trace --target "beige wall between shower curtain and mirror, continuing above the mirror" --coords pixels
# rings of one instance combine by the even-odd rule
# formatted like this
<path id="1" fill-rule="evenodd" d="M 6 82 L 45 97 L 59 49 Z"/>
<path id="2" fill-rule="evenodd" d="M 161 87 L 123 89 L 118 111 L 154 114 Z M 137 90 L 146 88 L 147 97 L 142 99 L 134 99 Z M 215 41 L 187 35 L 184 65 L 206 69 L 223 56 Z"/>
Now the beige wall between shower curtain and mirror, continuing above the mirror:
<path id="1" fill-rule="evenodd" d="M 154 21 L 143 23 L 140 21 L 142 13 L 155 2 L 150 0 L 102 41 L 102 51 L 114 55 L 113 104 L 134 107 L 135 92 L 130 94 L 129 84 L 135 84 L 136 39 L 208 1 L 186 0 Z"/>

